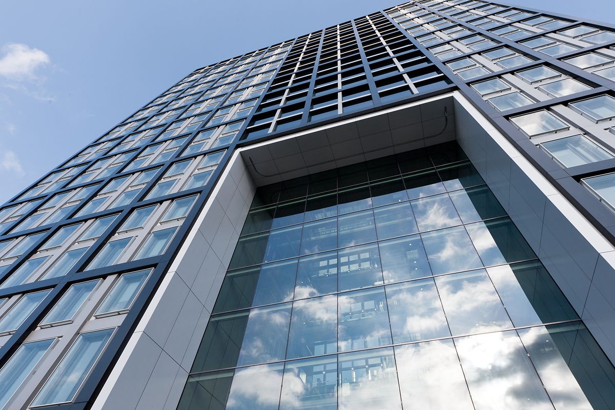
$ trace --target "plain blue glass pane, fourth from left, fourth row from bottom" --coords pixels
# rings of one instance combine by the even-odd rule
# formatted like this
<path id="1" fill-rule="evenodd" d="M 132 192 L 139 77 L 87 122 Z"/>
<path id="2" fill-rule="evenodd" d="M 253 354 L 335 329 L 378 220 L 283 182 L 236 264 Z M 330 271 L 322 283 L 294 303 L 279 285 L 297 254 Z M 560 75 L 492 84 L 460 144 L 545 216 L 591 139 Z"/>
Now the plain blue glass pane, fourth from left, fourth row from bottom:
<path id="1" fill-rule="evenodd" d="M 410 202 L 375 208 L 376 234 L 379 240 L 418 232 Z"/>

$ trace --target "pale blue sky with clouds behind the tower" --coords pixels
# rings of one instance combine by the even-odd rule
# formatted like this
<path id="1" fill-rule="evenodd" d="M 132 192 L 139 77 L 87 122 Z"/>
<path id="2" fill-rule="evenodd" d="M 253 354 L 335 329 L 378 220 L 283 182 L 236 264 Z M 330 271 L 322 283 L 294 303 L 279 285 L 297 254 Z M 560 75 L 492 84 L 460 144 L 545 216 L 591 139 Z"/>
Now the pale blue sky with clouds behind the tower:
<path id="1" fill-rule="evenodd" d="M 193 69 L 400 2 L 4 2 L 0 203 Z M 606 0 L 515 4 L 613 22 Z"/>

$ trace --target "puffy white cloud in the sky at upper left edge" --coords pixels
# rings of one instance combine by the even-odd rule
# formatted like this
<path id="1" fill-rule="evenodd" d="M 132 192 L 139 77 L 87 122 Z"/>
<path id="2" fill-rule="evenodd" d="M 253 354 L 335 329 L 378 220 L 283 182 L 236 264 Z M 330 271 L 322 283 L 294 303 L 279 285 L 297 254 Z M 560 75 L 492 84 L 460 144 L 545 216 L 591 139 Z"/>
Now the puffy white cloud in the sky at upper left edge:
<path id="1" fill-rule="evenodd" d="M 2 52 L 0 76 L 14 81 L 36 79 L 36 70 L 51 61 L 46 52 L 26 44 L 6 44 Z"/>

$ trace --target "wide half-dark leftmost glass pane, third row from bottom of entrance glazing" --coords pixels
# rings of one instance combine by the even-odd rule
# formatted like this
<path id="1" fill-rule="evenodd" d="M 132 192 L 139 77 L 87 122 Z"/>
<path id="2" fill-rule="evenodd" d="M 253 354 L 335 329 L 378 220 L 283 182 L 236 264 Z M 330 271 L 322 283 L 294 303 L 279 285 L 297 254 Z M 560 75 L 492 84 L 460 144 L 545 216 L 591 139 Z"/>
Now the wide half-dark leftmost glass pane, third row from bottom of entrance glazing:
<path id="1" fill-rule="evenodd" d="M 224 277 L 213 312 L 292 300 L 296 270 L 297 260 L 290 259 L 229 271 Z"/>

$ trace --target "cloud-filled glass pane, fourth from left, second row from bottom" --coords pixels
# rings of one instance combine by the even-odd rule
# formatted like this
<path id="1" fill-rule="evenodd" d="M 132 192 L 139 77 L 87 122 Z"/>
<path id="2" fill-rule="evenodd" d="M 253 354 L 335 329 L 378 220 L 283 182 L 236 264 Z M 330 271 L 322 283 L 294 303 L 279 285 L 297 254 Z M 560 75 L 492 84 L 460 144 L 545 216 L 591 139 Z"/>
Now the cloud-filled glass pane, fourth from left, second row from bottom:
<path id="1" fill-rule="evenodd" d="M 386 286 L 393 343 L 451 336 L 432 278 Z"/>

